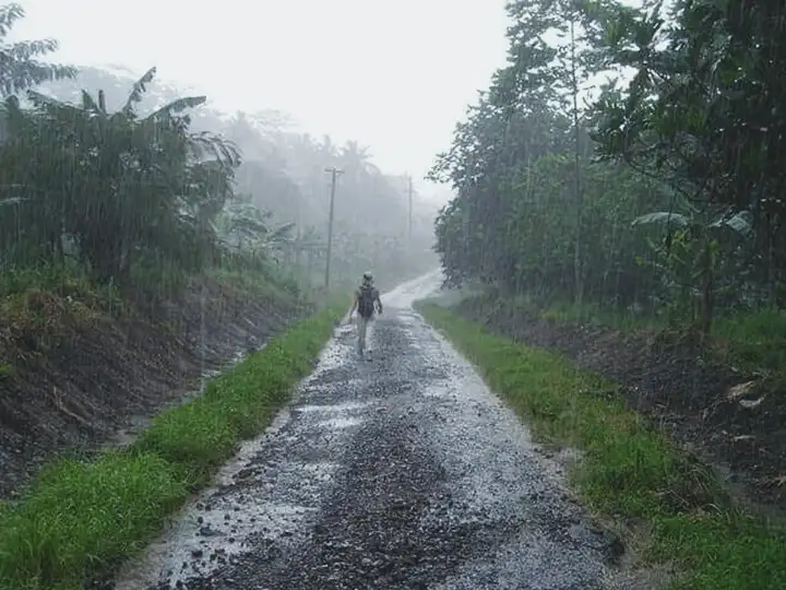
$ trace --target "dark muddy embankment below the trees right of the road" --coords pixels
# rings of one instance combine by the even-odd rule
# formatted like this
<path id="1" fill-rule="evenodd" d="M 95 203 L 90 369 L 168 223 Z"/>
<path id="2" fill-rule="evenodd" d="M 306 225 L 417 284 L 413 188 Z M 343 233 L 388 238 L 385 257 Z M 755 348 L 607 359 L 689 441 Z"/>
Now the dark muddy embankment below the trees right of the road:
<path id="1" fill-rule="evenodd" d="M 628 408 L 718 469 L 739 497 L 786 514 L 786 391 L 652 332 L 543 319 L 484 297 L 454 306 L 516 341 L 550 349 L 622 386 Z"/>

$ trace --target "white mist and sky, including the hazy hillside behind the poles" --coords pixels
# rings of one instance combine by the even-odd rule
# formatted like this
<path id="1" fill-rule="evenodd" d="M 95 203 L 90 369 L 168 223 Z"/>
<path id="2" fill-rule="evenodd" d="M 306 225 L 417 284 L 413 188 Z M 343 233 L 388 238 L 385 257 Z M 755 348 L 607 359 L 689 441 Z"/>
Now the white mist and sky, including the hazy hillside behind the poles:
<path id="1" fill-rule="evenodd" d="M 60 2 L 22 5 L 26 15 L 10 38 L 55 38 L 52 60 L 80 69 L 73 80 L 43 84 L 45 94 L 80 102 L 81 91 L 103 90 L 111 111 L 155 67 L 140 113 L 181 96 L 206 96 L 190 114 L 193 128 L 237 144 L 238 193 L 273 225 L 295 224 L 291 236 L 300 244 L 284 256 L 303 274 L 317 281 L 324 267 L 324 169 L 333 166 L 346 168 L 336 187 L 336 273 L 347 279 L 374 269 L 382 278 L 402 272 L 405 261 L 418 261 L 413 271 L 437 263 L 433 220 L 452 191 L 426 173 L 499 63 L 502 2 L 230 2 L 218 12 L 142 2 L 122 24 L 105 4 L 82 2 L 90 25 Z M 468 38 L 475 42 L 464 43 Z"/>

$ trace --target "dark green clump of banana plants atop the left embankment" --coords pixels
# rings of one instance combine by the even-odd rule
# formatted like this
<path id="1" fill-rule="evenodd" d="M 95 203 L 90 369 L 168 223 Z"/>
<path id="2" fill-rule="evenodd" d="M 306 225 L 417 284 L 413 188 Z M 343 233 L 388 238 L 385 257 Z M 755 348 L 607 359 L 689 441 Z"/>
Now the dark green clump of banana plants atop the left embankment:
<path id="1" fill-rule="evenodd" d="M 5 102 L 11 133 L 0 149 L 0 190 L 24 206 L 3 221 L 27 220 L 23 244 L 44 238 L 50 258 L 69 239 L 100 282 L 126 282 L 134 263 L 151 260 L 201 268 L 214 256 L 213 220 L 233 196 L 234 145 L 190 132 L 181 115 L 204 97 L 136 114 L 154 75 L 155 68 L 116 113 L 103 92 L 97 99 L 84 92 L 72 105 L 29 91 L 31 111 Z"/>

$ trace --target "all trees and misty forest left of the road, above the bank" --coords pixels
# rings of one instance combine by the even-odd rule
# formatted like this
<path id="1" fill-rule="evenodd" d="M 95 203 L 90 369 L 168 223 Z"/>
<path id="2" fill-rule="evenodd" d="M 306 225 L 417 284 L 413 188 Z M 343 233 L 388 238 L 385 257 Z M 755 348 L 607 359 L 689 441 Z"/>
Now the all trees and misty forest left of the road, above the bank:
<path id="1" fill-rule="evenodd" d="M 0 38 L 22 9 L 0 9 Z M 155 285 L 222 266 L 299 269 L 323 281 L 324 169 L 336 196 L 334 276 L 401 276 L 432 232 L 406 239 L 406 185 L 349 142 L 287 131 L 275 113 L 228 117 L 182 97 L 155 68 L 76 71 L 39 61 L 51 40 L 4 44 L 0 88 L 0 267 L 72 268 L 99 283 Z M 32 90 L 35 87 L 35 90 Z M 426 257 L 428 258 L 428 257 Z M 417 264 L 415 266 L 417 267 Z M 279 272 L 279 271 L 276 271 Z"/>

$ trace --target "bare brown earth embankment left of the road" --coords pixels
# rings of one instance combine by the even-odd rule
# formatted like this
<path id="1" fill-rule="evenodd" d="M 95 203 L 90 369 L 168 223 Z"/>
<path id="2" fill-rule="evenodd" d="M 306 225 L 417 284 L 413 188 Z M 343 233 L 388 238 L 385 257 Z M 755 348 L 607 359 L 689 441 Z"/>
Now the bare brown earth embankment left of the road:
<path id="1" fill-rule="evenodd" d="M 26 326 L 0 318 L 0 498 L 14 497 L 58 451 L 131 439 L 205 374 L 308 312 L 207 279 L 155 311 L 136 306 L 120 317 L 46 293 L 24 306 Z"/>

